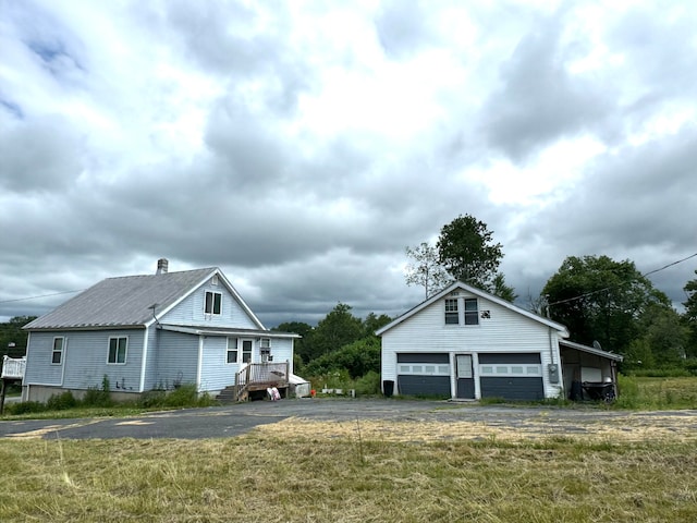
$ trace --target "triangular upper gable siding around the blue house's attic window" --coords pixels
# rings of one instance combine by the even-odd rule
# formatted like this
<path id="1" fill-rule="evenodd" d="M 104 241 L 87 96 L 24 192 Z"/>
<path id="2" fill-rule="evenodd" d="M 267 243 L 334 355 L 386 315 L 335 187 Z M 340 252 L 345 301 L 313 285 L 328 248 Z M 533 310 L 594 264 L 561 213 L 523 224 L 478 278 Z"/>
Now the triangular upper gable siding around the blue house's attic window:
<path id="1" fill-rule="evenodd" d="M 206 300 L 206 291 L 220 292 L 222 294 L 221 314 L 205 314 L 204 305 Z M 200 285 L 172 311 L 169 311 L 161 318 L 162 324 L 182 325 L 182 326 L 216 326 L 231 327 L 239 329 L 258 329 L 253 318 L 246 313 L 244 307 L 235 300 L 233 294 L 220 281 L 213 285 L 210 280 Z"/>

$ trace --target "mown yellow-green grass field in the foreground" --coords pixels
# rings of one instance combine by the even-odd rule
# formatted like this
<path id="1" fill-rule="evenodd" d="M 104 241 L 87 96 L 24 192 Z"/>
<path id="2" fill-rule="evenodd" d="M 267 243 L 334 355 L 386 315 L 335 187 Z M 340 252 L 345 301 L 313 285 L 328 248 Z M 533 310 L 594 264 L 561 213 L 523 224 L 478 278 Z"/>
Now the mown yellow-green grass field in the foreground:
<path id="1" fill-rule="evenodd" d="M 199 441 L 3 439 L 0 521 L 697 521 L 695 434 L 473 440 L 462 424 L 327 425 Z"/>

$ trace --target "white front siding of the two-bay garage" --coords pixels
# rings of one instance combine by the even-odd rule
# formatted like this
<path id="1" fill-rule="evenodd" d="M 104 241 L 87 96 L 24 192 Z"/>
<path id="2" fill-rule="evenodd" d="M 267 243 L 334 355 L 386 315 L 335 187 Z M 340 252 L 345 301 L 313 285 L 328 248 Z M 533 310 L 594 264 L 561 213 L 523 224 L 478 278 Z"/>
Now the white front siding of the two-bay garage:
<path id="1" fill-rule="evenodd" d="M 545 397 L 559 396 L 562 390 L 561 384 L 551 384 L 547 373 L 549 364 L 559 365 L 560 363 L 559 335 L 555 329 L 493 301 L 463 291 L 460 291 L 458 297 L 477 297 L 478 300 L 478 325 L 462 325 L 462 321 L 458 325 L 445 325 L 444 300 L 448 297 L 451 296 L 445 295 L 435 301 L 382 333 L 383 380 L 396 380 L 398 354 L 445 352 L 451 354 L 452 362 L 455 354 L 473 354 L 475 396 L 481 398 L 481 379 L 484 378 L 479 378 L 479 355 L 534 353 L 539 354 Z M 484 311 L 489 312 L 488 318 L 481 317 Z M 455 397 L 457 384 L 453 364 L 451 364 L 451 373 L 450 393 Z M 490 381 L 484 388 L 484 393 L 491 390 L 490 385 L 497 385 L 496 380 L 491 381 L 492 378 L 488 379 Z M 530 384 L 526 382 L 526 385 Z M 399 384 L 396 393 L 403 393 L 399 390 Z M 537 392 L 534 393 L 537 394 Z"/>

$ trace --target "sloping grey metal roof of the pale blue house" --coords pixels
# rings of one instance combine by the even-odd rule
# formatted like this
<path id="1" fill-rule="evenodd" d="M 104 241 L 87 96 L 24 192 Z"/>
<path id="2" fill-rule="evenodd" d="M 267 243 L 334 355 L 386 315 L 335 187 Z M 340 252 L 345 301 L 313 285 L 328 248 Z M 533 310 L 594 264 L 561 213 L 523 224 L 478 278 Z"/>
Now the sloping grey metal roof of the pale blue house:
<path id="1" fill-rule="evenodd" d="M 169 309 L 220 272 L 216 267 L 160 275 L 107 278 L 48 314 L 27 324 L 27 330 L 145 327 L 155 314 Z"/>

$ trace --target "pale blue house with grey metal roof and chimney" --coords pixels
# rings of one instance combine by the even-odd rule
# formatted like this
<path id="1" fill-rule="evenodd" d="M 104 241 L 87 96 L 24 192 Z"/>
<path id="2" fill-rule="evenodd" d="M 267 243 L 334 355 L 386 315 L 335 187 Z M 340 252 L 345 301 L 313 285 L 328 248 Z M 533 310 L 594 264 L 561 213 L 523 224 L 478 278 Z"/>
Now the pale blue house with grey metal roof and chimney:
<path id="1" fill-rule="evenodd" d="M 292 379 L 297 335 L 268 330 L 217 267 L 108 278 L 24 328 L 25 401 L 101 388 L 126 399 L 195 384 L 217 394 L 249 364 Z M 248 374 L 248 373 L 247 373 Z"/>

